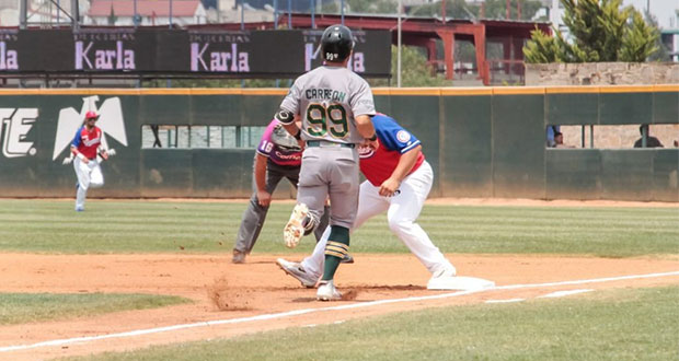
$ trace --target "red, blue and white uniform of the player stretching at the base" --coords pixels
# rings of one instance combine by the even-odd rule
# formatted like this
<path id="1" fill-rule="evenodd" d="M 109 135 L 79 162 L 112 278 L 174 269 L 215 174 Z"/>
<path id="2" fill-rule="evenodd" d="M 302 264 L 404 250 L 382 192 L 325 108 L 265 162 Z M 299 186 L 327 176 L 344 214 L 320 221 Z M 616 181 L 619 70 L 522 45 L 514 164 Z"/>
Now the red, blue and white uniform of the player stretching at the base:
<path id="1" fill-rule="evenodd" d="M 427 233 L 415 221 L 419 217 L 424 201 L 429 195 L 434 173 L 422 152 L 415 165 L 403 178 L 392 197 L 379 194 L 380 185 L 387 180 L 399 164 L 402 154 L 417 148 L 421 142 L 394 119 L 383 114 L 372 117 L 380 147 L 377 151 L 359 150 L 360 171 L 366 176 L 358 194 L 358 211 L 352 231 L 360 228 L 370 218 L 387 212 L 389 229 L 407 246 L 419 261 L 431 272 L 454 276 L 456 268 L 431 243 Z M 302 260 L 302 267 L 311 275 L 323 270 L 323 252 L 330 236 L 330 228 L 317 244 L 313 254 Z"/>

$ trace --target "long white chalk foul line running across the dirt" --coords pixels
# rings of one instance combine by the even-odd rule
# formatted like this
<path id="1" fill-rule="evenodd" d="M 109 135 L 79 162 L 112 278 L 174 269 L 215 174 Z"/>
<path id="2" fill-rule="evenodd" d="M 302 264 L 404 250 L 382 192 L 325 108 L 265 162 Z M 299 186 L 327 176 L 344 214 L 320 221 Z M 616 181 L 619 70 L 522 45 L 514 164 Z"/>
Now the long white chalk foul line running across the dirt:
<path id="1" fill-rule="evenodd" d="M 586 279 L 586 280 L 548 282 L 548 283 L 508 284 L 508 286 L 500 286 L 500 287 L 482 289 L 482 290 L 458 291 L 458 292 L 452 292 L 452 293 L 442 293 L 442 294 L 424 295 L 424 296 L 405 298 L 405 299 L 379 300 L 379 301 L 360 302 L 360 303 L 344 304 L 344 305 L 338 305 L 338 306 L 320 307 L 320 308 L 304 308 L 304 310 L 296 310 L 296 311 L 275 313 L 275 314 L 264 314 L 264 315 L 257 315 L 257 316 L 251 316 L 251 317 L 207 321 L 207 322 L 199 322 L 199 323 L 194 323 L 194 324 L 183 324 L 183 325 L 174 325 L 174 326 L 166 326 L 166 327 L 138 329 L 134 331 L 119 333 L 119 334 L 76 337 L 76 338 L 57 339 L 57 340 L 43 341 L 43 342 L 30 343 L 30 345 L 7 346 L 7 347 L 0 347 L 0 352 L 27 350 L 27 349 L 35 349 L 35 348 L 41 348 L 41 347 L 61 346 L 61 345 L 85 342 L 85 341 L 96 341 L 96 340 L 103 340 L 103 339 L 108 339 L 108 338 L 124 338 L 124 337 L 133 337 L 133 336 L 140 336 L 140 335 L 159 334 L 159 333 L 166 333 L 166 331 L 172 331 L 172 330 L 177 330 L 177 329 L 209 327 L 209 326 L 217 326 L 217 325 L 241 324 L 241 323 L 254 322 L 254 321 L 284 318 L 284 317 L 298 316 L 298 315 L 315 313 L 315 312 L 362 308 L 362 307 L 371 307 L 371 306 L 377 306 L 377 305 L 382 305 L 382 304 L 400 303 L 400 302 L 417 302 L 417 301 L 426 301 L 426 300 L 448 299 L 448 298 L 456 298 L 460 295 L 481 293 L 481 292 L 494 291 L 494 290 L 516 290 L 516 289 L 555 287 L 555 286 L 567 286 L 567 284 L 601 283 L 601 282 L 621 281 L 621 280 L 629 280 L 629 279 L 659 278 L 659 277 L 670 277 L 670 276 L 679 276 L 679 271 L 595 278 L 595 279 Z"/>

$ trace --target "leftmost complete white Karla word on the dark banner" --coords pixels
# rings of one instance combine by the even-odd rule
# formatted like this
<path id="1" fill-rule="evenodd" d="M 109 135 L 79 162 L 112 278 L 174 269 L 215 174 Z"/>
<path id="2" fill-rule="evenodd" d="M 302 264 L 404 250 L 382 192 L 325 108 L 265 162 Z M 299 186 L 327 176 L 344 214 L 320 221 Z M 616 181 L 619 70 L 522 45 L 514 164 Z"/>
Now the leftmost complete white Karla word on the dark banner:
<path id="1" fill-rule="evenodd" d="M 125 49 L 123 42 L 115 43 L 115 49 L 100 49 L 94 51 L 94 66 L 90 58 L 90 50 L 94 42 L 89 42 L 83 48 L 83 42 L 76 42 L 76 69 L 87 70 L 135 70 L 135 50 Z M 87 68 L 85 68 L 87 65 Z"/>

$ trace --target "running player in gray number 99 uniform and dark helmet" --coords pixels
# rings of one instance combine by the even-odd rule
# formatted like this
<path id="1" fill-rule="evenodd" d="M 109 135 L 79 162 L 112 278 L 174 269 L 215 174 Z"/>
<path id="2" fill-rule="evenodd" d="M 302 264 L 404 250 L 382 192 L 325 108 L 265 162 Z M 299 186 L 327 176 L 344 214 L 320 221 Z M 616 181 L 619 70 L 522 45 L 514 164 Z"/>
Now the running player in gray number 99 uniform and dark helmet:
<path id="1" fill-rule="evenodd" d="M 324 63 L 299 77 L 283 100 L 276 118 L 290 135 L 307 142 L 299 174 L 297 206 L 284 229 L 284 241 L 295 247 L 318 225 L 330 197 L 331 232 L 325 246 L 323 276 L 317 290 L 321 301 L 341 300 L 333 278 L 349 249 L 349 228 L 358 208 L 358 150 L 376 143 L 370 121 L 375 103 L 370 85 L 347 69 L 354 49 L 352 31 L 331 25 L 323 32 Z M 302 119 L 301 129 L 295 116 Z"/>

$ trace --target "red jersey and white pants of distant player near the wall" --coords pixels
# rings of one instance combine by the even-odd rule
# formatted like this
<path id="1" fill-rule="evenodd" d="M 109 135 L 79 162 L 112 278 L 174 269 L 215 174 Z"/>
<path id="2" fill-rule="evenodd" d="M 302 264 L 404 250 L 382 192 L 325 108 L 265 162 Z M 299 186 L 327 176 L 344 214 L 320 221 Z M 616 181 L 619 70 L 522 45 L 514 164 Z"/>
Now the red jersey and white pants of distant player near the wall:
<path id="1" fill-rule="evenodd" d="M 104 185 L 104 175 L 96 159 L 99 147 L 102 143 L 102 136 L 100 128 L 92 127 L 92 129 L 88 129 L 88 127 L 82 126 L 78 129 L 71 142 L 71 149 L 77 149 L 79 153 L 89 160 L 85 163 L 78 156 L 73 159 L 73 168 L 78 176 L 78 191 L 76 194 L 76 210 L 78 211 L 84 210 L 88 189 L 90 187 L 99 188 Z"/>

